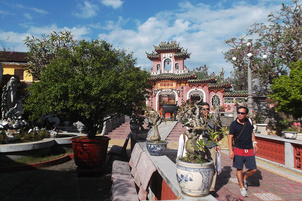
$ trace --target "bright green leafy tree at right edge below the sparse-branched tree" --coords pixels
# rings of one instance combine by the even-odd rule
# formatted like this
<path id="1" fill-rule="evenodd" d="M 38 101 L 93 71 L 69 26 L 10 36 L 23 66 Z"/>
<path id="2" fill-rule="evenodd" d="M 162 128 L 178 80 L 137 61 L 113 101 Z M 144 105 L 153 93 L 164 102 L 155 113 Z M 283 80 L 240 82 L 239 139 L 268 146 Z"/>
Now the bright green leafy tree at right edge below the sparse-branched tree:
<path id="1" fill-rule="evenodd" d="M 289 75 L 282 75 L 273 80 L 271 85 L 273 94 L 268 97 L 279 103 L 275 107 L 278 112 L 300 118 L 302 117 L 302 60 L 292 63 L 289 68 Z"/>

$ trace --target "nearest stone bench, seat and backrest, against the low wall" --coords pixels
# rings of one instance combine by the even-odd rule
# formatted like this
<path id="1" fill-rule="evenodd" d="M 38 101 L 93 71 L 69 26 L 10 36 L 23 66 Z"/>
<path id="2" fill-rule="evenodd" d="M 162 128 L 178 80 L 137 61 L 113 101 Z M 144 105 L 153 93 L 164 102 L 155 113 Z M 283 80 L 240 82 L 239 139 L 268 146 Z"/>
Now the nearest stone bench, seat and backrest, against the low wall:
<path id="1" fill-rule="evenodd" d="M 112 201 L 146 200 L 150 178 L 153 172 L 156 171 L 153 162 L 146 152 L 141 153 L 134 175 L 131 174 L 130 176 L 129 172 L 127 174 L 117 174 L 117 172 L 113 170 L 114 168 L 116 167 L 112 166 L 112 172 L 114 172 Z"/>

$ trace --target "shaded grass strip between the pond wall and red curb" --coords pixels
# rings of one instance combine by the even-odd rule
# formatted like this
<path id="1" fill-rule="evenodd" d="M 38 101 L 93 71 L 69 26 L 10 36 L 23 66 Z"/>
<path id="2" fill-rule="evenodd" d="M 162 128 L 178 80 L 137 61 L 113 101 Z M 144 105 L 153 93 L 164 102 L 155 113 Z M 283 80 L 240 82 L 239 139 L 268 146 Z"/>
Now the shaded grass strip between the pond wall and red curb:
<path id="1" fill-rule="evenodd" d="M 6 167 L 6 166 L 14 166 L 14 165 L 24 165 L 24 164 L 32 164 L 32 163 L 40 163 L 45 161 L 51 161 L 57 158 L 60 158 L 62 156 L 65 156 L 66 154 L 72 154 L 72 149 L 68 149 L 66 153 L 59 154 L 59 155 L 47 155 L 45 157 L 35 157 L 35 156 L 29 156 L 27 158 L 21 158 L 11 161 L 1 161 L 0 167 Z"/>

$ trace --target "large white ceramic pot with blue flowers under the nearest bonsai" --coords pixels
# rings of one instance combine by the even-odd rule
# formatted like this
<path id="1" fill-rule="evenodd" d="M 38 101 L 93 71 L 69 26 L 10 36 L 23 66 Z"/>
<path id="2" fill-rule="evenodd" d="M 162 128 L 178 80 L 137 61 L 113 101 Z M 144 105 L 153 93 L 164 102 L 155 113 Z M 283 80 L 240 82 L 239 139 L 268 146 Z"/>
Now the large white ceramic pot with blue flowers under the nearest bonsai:
<path id="1" fill-rule="evenodd" d="M 183 194 L 193 197 L 207 196 L 213 182 L 213 161 L 187 163 L 176 158 L 176 177 Z"/>

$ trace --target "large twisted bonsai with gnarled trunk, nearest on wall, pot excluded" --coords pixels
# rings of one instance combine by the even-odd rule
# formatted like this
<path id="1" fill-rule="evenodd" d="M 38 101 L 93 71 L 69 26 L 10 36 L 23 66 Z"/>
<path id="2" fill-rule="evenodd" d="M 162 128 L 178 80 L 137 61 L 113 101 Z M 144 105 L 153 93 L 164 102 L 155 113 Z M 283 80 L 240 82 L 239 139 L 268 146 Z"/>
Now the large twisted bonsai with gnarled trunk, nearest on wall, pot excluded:
<path id="1" fill-rule="evenodd" d="M 209 115 L 204 117 L 202 115 L 202 108 L 200 104 L 202 103 L 202 97 L 200 100 L 194 103 L 193 101 L 187 100 L 184 101 L 182 106 L 180 107 L 180 112 L 178 113 L 178 122 L 182 123 L 182 127 L 188 126 L 192 129 L 185 130 L 185 135 L 188 137 L 188 140 L 185 143 L 185 149 L 187 152 L 186 157 L 180 157 L 180 160 L 186 162 L 193 163 L 202 163 L 204 162 L 204 158 L 201 158 L 198 154 L 198 150 L 202 150 L 204 152 L 204 146 L 209 145 L 209 142 L 214 142 L 216 145 L 220 146 L 215 139 L 218 137 L 220 133 L 223 133 L 223 137 L 225 136 L 228 129 L 222 128 L 220 126 L 219 120 L 212 119 L 212 116 Z M 212 122 L 214 125 L 220 128 L 220 131 L 207 130 L 207 123 Z M 199 136 L 202 132 L 210 132 L 210 139 L 207 142 L 204 142 L 204 139 L 199 139 Z"/>

